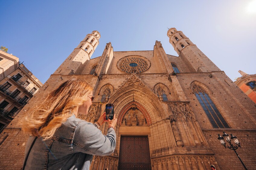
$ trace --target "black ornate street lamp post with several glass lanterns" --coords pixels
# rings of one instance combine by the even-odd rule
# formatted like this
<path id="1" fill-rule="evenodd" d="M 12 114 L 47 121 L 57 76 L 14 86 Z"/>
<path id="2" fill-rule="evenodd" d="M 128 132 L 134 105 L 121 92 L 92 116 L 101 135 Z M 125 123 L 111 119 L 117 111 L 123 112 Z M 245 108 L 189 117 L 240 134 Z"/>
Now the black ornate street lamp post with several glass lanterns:
<path id="1" fill-rule="evenodd" d="M 218 134 L 219 135 L 219 134 Z M 225 147 L 225 148 L 229 148 L 231 150 L 237 150 L 238 147 L 241 148 L 240 146 L 240 142 L 238 141 L 236 136 L 233 136 L 232 134 L 230 134 L 232 141 L 235 143 L 235 146 L 233 144 L 231 144 L 231 140 L 229 138 L 229 134 L 226 134 L 225 131 L 223 131 L 222 136 L 219 135 L 218 139 L 219 142 Z M 225 140 L 229 143 L 229 146 L 226 146 Z M 238 153 L 235 151 L 235 154 L 237 155 L 237 157 L 239 158 L 239 160 L 241 161 L 241 163 L 243 164 L 244 168 L 246 170 L 248 170 L 244 164 L 244 162 L 242 161 L 242 159 L 240 158 L 240 156 L 238 155 Z"/>

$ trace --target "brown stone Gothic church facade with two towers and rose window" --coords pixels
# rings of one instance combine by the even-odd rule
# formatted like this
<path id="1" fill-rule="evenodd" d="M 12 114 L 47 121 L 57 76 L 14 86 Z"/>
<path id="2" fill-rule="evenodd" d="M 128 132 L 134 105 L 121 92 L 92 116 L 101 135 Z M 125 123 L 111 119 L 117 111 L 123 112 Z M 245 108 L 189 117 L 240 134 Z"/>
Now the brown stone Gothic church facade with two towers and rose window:
<path id="1" fill-rule="evenodd" d="M 232 133 L 241 142 L 237 152 L 255 169 L 256 105 L 183 32 L 171 28 L 165 53 L 156 41 L 153 51 L 114 51 L 107 43 L 100 57 L 90 59 L 99 44 L 93 31 L 72 51 L 43 87 L 1 133 L 0 168 L 21 168 L 29 134 L 19 119 L 62 82 L 78 77 L 94 87 L 86 116 L 95 122 L 105 105 L 114 104 L 117 147 L 110 156 L 94 156 L 90 169 L 193 170 L 243 169 L 217 134 Z M 107 124 L 101 126 L 103 134 Z"/>

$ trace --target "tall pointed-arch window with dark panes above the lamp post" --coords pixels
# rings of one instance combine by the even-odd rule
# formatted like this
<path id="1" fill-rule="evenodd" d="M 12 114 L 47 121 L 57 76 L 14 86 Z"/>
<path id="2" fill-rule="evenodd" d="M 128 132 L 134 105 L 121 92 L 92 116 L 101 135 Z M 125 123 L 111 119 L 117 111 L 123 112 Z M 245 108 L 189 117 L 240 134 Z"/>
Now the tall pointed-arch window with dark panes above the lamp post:
<path id="1" fill-rule="evenodd" d="M 197 100 L 203 107 L 204 112 L 213 125 L 213 128 L 230 128 L 206 91 L 197 84 L 194 84 L 192 89 L 197 97 Z"/>

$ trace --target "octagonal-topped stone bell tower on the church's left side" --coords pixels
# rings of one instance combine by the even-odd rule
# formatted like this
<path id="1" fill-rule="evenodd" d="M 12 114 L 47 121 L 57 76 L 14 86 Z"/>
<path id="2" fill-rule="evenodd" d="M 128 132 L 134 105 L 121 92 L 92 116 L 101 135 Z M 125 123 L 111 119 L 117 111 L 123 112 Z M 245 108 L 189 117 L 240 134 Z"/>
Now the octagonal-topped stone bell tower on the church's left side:
<path id="1" fill-rule="evenodd" d="M 87 34 L 53 74 L 72 75 L 81 73 L 82 65 L 85 61 L 91 59 L 100 38 L 101 34 L 98 31 Z"/>

